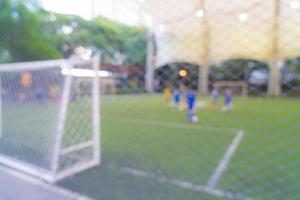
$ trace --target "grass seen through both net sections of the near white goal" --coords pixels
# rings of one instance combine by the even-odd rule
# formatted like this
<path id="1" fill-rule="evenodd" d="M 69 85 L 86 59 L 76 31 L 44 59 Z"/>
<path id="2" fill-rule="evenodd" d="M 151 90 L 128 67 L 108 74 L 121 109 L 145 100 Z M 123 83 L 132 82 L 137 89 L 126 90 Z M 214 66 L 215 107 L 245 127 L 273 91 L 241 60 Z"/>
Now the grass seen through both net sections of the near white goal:
<path id="1" fill-rule="evenodd" d="M 53 102 L 4 104 L 0 153 L 51 169 L 60 106 Z M 61 148 L 92 140 L 91 109 L 91 101 L 70 102 Z M 71 159 L 72 154 L 62 156 L 61 168 L 70 166 Z"/>

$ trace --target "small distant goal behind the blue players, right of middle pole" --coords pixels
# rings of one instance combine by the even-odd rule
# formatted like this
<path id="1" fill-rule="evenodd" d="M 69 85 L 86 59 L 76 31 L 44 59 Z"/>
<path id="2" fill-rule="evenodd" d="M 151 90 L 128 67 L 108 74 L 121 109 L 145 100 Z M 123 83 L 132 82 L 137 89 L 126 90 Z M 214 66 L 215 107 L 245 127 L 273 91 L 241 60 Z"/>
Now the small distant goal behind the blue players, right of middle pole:
<path id="1" fill-rule="evenodd" d="M 224 93 L 227 88 L 231 88 L 234 95 L 247 96 L 248 95 L 248 84 L 244 81 L 216 81 L 214 84 L 219 92 Z"/>

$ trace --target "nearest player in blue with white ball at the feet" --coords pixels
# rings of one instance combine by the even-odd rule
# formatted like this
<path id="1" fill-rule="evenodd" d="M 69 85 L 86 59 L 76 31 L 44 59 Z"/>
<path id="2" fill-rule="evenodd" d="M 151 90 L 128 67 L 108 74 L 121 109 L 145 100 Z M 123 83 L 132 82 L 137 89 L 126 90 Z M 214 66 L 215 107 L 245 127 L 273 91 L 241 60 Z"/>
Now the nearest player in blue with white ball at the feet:
<path id="1" fill-rule="evenodd" d="M 188 89 L 185 92 L 185 99 L 187 103 L 187 114 L 186 118 L 191 123 L 196 123 L 198 121 L 198 118 L 195 114 L 195 107 L 196 107 L 196 101 L 197 101 L 197 92 L 193 89 Z"/>

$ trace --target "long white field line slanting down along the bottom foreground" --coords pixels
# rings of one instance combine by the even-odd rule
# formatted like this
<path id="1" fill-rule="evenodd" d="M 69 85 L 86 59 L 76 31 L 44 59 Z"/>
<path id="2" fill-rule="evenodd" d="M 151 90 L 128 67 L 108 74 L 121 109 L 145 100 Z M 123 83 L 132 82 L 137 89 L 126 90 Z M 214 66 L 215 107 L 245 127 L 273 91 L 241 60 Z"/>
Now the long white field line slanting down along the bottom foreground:
<path id="1" fill-rule="evenodd" d="M 127 168 L 127 167 L 125 168 L 124 167 L 124 168 L 121 168 L 121 171 L 124 173 L 130 174 L 130 175 L 136 176 L 136 177 L 152 179 L 159 183 L 169 184 L 169 185 L 177 186 L 177 187 L 184 188 L 184 189 L 203 192 L 203 193 L 207 193 L 207 194 L 221 197 L 221 198 L 228 198 L 228 199 L 238 198 L 238 199 L 243 199 L 243 200 L 254 200 L 253 198 L 246 197 L 241 194 L 231 193 L 231 192 L 227 192 L 227 191 L 219 190 L 219 189 L 214 189 L 214 188 L 210 188 L 205 185 L 198 185 L 198 184 L 194 184 L 194 183 L 187 182 L 187 181 L 171 179 L 171 178 L 167 178 L 164 176 L 158 176 L 151 172 L 146 172 L 146 171 L 137 170 L 137 169 L 133 169 L 133 168 Z"/>

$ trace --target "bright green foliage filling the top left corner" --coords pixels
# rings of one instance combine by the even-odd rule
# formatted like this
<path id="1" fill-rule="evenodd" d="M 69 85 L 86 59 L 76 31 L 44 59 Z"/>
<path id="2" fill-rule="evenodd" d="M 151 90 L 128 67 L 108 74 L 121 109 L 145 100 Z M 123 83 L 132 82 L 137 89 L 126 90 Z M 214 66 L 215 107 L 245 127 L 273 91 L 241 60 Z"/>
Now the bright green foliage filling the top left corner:
<path id="1" fill-rule="evenodd" d="M 38 16 L 23 3 L 0 0 L 0 7 L 1 48 L 9 51 L 11 61 L 60 57 L 61 54 L 41 33 Z"/>

